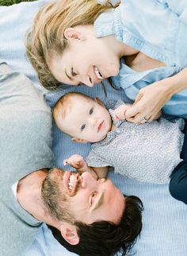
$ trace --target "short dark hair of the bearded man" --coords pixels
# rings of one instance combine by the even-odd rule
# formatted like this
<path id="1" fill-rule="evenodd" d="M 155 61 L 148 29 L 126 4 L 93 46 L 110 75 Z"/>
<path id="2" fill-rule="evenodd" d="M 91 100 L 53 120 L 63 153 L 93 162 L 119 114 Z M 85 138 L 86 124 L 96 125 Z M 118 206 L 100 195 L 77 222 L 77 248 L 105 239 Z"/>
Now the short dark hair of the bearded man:
<path id="1" fill-rule="evenodd" d="M 143 203 L 137 196 L 125 196 L 125 208 L 119 224 L 97 221 L 92 224 L 75 222 L 80 242 L 72 246 L 59 230 L 49 226 L 52 234 L 67 250 L 81 256 L 125 255 L 135 244 L 142 230 Z"/>

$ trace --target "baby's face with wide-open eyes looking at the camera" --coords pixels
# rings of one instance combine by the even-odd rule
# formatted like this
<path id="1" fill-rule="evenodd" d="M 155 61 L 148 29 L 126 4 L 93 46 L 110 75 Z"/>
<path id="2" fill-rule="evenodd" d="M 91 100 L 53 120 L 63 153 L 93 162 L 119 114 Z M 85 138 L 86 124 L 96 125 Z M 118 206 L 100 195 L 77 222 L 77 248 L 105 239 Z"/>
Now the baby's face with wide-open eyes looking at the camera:
<path id="1" fill-rule="evenodd" d="M 74 96 L 66 107 L 66 115 L 59 128 L 71 135 L 75 142 L 100 142 L 111 130 L 111 126 L 109 111 L 101 103 Z"/>

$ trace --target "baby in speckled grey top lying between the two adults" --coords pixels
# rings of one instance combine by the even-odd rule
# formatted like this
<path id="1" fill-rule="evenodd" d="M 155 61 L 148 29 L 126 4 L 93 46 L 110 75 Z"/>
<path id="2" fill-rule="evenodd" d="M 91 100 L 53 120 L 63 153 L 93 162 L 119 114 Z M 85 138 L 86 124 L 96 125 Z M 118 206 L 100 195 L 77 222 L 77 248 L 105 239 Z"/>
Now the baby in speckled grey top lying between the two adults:
<path id="1" fill-rule="evenodd" d="M 92 142 L 86 161 L 73 155 L 64 160 L 64 165 L 99 178 L 105 177 L 112 166 L 116 173 L 129 178 L 168 183 L 170 173 L 181 162 L 184 120 L 159 118 L 137 125 L 124 120 L 126 110 L 123 102 L 111 103 L 108 111 L 97 98 L 78 92 L 63 95 L 53 110 L 56 125 L 73 142 Z"/>

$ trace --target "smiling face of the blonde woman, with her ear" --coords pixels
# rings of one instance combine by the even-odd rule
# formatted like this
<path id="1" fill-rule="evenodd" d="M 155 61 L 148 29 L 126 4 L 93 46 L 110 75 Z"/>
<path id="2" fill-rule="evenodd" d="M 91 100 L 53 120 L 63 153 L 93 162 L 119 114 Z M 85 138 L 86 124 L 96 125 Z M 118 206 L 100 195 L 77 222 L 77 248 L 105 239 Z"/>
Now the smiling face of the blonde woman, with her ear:
<path id="1" fill-rule="evenodd" d="M 54 54 L 48 61 L 55 79 L 75 86 L 84 83 L 92 87 L 94 83 L 109 76 L 116 76 L 120 68 L 120 58 L 113 51 L 111 38 L 96 38 L 91 26 L 77 28 L 78 30 L 70 28 L 65 31 L 68 46 L 63 55 Z"/>

